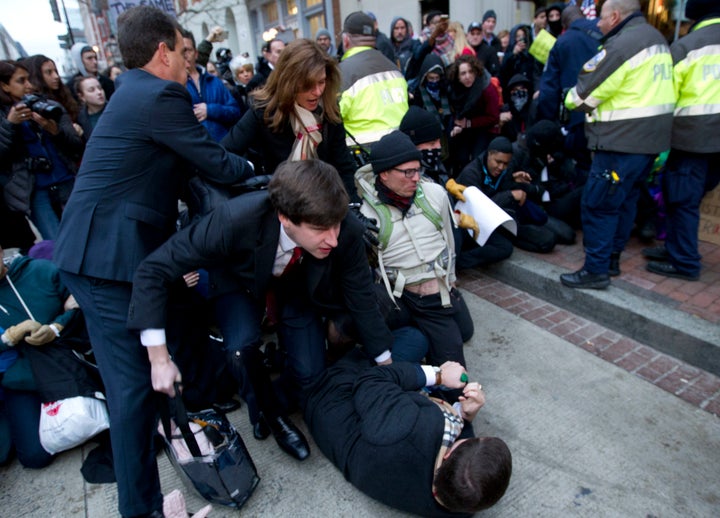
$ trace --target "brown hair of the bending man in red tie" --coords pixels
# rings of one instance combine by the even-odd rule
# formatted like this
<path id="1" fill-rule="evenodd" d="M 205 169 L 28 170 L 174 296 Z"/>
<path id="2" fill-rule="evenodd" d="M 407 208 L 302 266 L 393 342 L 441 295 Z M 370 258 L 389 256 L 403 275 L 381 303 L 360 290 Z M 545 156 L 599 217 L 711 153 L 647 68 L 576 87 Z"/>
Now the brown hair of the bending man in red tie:
<path id="1" fill-rule="evenodd" d="M 322 160 L 282 162 L 273 173 L 268 192 L 277 211 L 295 225 L 338 225 L 350 203 L 337 169 Z"/>

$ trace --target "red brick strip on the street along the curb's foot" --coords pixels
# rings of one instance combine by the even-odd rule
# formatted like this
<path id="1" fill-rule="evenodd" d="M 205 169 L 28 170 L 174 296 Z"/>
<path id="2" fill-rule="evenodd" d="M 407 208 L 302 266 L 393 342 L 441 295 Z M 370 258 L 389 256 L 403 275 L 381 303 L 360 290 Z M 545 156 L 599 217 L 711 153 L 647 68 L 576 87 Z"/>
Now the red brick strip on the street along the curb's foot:
<path id="1" fill-rule="evenodd" d="M 465 270 L 459 280 L 461 287 L 470 293 L 720 417 L 719 377 L 496 281 L 482 272 Z"/>

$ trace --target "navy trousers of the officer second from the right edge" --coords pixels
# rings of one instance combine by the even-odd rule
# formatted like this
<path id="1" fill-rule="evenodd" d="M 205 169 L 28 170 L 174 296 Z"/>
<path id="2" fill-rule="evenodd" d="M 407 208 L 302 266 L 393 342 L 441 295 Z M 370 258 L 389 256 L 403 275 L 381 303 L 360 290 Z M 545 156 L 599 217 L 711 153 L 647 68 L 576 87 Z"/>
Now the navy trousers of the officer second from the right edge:
<path id="1" fill-rule="evenodd" d="M 655 155 L 596 151 L 582 196 L 584 269 L 607 274 L 610 254 L 622 252 L 635 222 L 640 187 Z M 605 177 L 615 171 L 620 182 Z"/>

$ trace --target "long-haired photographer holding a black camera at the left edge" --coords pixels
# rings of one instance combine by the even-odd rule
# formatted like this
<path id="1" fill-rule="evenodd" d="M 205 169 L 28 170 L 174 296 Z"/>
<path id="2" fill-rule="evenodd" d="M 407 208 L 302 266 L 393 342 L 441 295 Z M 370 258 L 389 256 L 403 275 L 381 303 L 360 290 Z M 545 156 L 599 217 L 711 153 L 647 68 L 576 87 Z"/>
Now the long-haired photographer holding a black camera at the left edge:
<path id="1" fill-rule="evenodd" d="M 33 95 L 22 63 L 0 61 L 0 111 L 5 202 L 27 214 L 43 239 L 55 239 L 83 141 L 59 104 Z"/>

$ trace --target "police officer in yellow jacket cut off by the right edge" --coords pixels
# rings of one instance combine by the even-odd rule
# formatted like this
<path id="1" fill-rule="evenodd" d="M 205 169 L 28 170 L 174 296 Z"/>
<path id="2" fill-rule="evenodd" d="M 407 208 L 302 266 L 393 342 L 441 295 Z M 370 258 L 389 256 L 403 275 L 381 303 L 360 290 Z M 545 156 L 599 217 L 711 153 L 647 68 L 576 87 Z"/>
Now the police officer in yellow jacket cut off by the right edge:
<path id="1" fill-rule="evenodd" d="M 664 247 L 643 250 L 648 271 L 700 277 L 700 202 L 720 182 L 720 2 L 688 0 L 690 33 L 671 47 L 677 104 L 672 149 L 663 177 L 667 213 Z"/>

